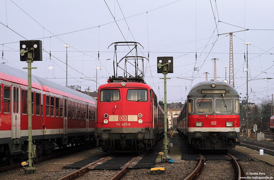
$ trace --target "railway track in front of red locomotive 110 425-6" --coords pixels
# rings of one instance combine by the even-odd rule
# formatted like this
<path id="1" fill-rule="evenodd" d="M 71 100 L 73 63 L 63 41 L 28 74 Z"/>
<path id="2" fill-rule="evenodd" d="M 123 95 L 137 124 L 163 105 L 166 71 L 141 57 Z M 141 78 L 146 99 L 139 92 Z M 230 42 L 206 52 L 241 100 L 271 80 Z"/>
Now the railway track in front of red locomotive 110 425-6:
<path id="1" fill-rule="evenodd" d="M 132 158 L 132 160 L 130 160 L 129 162 L 127 162 L 123 168 L 121 170 L 117 170 L 117 171 L 92 171 L 92 168 L 94 166 L 96 166 L 96 164 L 102 164 L 104 162 L 107 162 L 108 160 L 112 159 L 113 156 L 106 156 L 104 158 L 101 158 L 69 175 L 66 175 L 58 180 L 69 180 L 69 179 L 93 179 L 93 180 L 96 180 L 96 179 L 110 179 L 110 180 L 116 180 L 118 179 L 119 177 L 121 177 L 121 175 L 123 175 L 128 167 L 131 165 L 131 164 L 134 164 L 135 161 L 139 160 L 139 158 L 141 157 L 142 155 L 139 155 L 137 157 L 134 157 Z"/>

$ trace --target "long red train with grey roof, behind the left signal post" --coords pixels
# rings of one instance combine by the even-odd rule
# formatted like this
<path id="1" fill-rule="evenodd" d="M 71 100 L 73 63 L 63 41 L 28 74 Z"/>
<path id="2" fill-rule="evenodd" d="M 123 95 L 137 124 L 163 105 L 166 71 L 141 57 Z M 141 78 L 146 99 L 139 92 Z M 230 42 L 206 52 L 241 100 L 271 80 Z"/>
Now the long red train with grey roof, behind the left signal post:
<path id="1" fill-rule="evenodd" d="M 27 73 L 0 64 L 0 161 L 27 157 Z M 37 155 L 85 143 L 95 133 L 95 98 L 32 76 L 32 139 Z"/>

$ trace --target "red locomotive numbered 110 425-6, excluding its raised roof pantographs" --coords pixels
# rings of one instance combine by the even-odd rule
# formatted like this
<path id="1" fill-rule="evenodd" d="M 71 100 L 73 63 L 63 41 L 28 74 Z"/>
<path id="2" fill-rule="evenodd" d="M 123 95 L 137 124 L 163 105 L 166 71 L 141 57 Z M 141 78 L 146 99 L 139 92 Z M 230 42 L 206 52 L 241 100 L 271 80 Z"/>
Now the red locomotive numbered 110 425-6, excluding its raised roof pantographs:
<path id="1" fill-rule="evenodd" d="M 151 149 L 164 133 L 164 112 L 154 91 L 143 81 L 108 82 L 98 88 L 97 146 L 109 153 Z"/>

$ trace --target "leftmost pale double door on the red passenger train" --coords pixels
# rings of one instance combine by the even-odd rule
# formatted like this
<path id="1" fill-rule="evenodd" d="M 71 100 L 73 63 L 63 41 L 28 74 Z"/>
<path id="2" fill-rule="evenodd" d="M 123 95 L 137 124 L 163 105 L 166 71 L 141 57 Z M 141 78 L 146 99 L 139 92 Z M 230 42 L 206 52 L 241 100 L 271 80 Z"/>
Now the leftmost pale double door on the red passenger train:
<path id="1" fill-rule="evenodd" d="M 5 89 L 4 89 L 5 91 Z M 12 139 L 20 138 L 20 86 L 12 84 Z"/>

